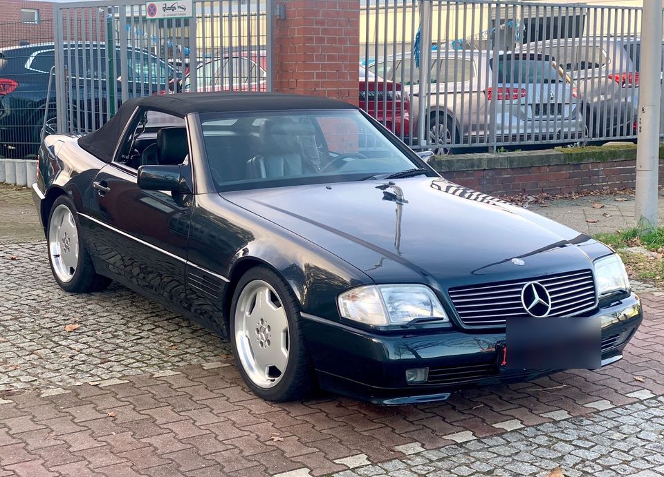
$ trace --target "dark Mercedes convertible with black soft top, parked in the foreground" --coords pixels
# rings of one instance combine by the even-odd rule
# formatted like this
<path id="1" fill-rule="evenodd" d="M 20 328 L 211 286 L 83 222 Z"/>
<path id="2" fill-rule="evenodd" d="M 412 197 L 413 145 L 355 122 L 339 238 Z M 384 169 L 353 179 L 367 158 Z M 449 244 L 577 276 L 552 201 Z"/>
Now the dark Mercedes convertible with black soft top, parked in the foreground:
<path id="1" fill-rule="evenodd" d="M 448 182 L 340 101 L 131 99 L 46 137 L 38 169 L 55 282 L 116 280 L 202 322 L 267 400 L 403 404 L 596 369 L 642 320 L 609 247 Z"/>

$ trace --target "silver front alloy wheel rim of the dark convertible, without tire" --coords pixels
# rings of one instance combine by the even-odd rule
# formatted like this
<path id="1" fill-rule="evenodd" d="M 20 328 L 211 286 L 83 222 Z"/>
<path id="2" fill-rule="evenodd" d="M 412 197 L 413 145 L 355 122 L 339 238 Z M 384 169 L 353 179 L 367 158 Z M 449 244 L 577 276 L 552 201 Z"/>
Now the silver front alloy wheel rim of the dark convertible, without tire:
<path id="1" fill-rule="evenodd" d="M 249 282 L 239 295 L 234 318 L 235 347 L 244 371 L 257 387 L 274 387 L 286 372 L 290 344 L 279 295 L 264 280 Z"/>

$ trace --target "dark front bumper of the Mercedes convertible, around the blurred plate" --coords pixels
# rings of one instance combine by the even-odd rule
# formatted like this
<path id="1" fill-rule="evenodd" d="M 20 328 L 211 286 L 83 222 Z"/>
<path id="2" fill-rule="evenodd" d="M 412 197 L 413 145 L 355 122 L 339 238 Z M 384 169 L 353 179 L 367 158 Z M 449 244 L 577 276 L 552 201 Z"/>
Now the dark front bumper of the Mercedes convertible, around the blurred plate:
<path id="1" fill-rule="evenodd" d="M 444 329 L 426 333 L 369 333 L 303 315 L 304 335 L 323 389 L 377 404 L 445 400 L 464 387 L 519 382 L 558 370 L 499 371 L 497 344 L 503 331 Z M 622 351 L 643 320 L 634 293 L 600 309 L 602 366 Z M 408 384 L 406 369 L 428 367 L 423 384 Z"/>

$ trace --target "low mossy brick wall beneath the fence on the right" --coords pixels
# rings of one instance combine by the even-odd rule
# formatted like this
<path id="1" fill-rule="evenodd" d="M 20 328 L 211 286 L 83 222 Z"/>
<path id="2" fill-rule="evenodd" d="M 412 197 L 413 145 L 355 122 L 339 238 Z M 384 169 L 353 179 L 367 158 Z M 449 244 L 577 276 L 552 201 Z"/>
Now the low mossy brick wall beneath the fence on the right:
<path id="1" fill-rule="evenodd" d="M 452 182 L 491 195 L 578 193 L 636 184 L 636 146 L 451 156 L 430 164 Z M 660 166 L 664 184 L 662 159 Z"/>

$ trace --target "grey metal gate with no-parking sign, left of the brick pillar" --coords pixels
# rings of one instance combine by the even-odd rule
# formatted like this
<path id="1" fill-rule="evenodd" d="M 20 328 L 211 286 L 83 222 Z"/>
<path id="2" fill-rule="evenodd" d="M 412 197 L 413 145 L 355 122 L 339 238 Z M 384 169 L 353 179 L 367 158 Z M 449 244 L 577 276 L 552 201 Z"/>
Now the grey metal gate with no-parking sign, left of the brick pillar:
<path id="1" fill-rule="evenodd" d="M 55 55 L 56 104 L 46 119 L 57 120 L 59 133 L 95 130 L 132 97 L 272 90 L 270 1 L 82 1 L 53 8 L 55 46 L 35 59 Z"/>

